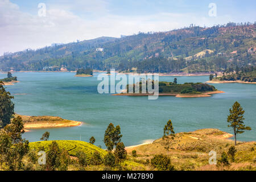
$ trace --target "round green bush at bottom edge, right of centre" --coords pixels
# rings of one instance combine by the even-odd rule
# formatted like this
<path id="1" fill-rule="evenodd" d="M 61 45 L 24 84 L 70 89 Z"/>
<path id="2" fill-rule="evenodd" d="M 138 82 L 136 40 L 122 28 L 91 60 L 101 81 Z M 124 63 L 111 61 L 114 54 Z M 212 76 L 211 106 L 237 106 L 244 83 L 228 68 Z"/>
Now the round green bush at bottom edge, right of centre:
<path id="1" fill-rule="evenodd" d="M 151 159 L 151 164 L 159 171 L 174 171 L 171 160 L 163 154 L 155 155 L 154 158 Z"/>

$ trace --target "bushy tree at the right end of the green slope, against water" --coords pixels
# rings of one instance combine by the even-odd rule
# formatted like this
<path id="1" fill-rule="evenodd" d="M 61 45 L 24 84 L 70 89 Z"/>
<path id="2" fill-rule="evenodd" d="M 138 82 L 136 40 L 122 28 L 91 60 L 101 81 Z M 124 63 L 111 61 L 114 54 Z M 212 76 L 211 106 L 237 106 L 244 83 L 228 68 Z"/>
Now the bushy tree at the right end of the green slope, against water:
<path id="1" fill-rule="evenodd" d="M 108 151 L 112 151 L 114 146 L 116 146 L 118 142 L 121 142 L 122 135 L 120 130 L 120 126 L 117 125 L 114 127 L 113 123 L 110 123 L 106 129 L 104 135 L 104 143 Z"/>

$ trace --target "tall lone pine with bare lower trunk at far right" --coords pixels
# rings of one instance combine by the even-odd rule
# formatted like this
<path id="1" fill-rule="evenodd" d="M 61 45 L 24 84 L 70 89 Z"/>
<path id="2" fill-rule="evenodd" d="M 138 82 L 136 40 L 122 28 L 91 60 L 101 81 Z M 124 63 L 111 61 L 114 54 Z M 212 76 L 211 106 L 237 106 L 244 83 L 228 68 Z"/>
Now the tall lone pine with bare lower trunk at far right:
<path id="1" fill-rule="evenodd" d="M 235 146 L 237 145 L 237 134 L 244 133 L 245 130 L 251 130 L 251 127 L 243 124 L 243 113 L 245 111 L 238 102 L 235 102 L 232 109 L 229 109 L 230 115 L 228 115 L 227 122 L 230 123 L 228 127 L 232 127 L 234 131 Z"/>

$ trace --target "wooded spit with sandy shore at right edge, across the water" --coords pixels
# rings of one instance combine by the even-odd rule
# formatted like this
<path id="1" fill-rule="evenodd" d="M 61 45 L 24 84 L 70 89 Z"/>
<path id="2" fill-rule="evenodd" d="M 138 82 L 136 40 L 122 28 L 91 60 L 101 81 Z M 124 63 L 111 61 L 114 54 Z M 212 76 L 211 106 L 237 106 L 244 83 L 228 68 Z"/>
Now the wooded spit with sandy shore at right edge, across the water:
<path id="1" fill-rule="evenodd" d="M 207 81 L 212 84 L 220 83 L 240 83 L 240 84 L 256 84 L 256 67 L 245 67 L 226 69 L 220 76 L 210 75 L 210 80 Z"/>

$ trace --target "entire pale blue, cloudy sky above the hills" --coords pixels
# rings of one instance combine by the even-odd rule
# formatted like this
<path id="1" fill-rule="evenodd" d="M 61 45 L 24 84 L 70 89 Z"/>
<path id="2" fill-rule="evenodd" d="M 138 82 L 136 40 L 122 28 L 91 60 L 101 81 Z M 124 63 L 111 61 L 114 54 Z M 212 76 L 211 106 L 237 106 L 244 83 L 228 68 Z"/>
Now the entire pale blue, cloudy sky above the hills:
<path id="1" fill-rule="evenodd" d="M 46 5 L 46 14 L 39 3 Z M 216 4 L 216 16 L 209 16 L 210 3 Z M 191 23 L 254 23 L 255 8 L 255 0 L 0 0 L 0 55 L 77 39 L 168 31 Z"/>

